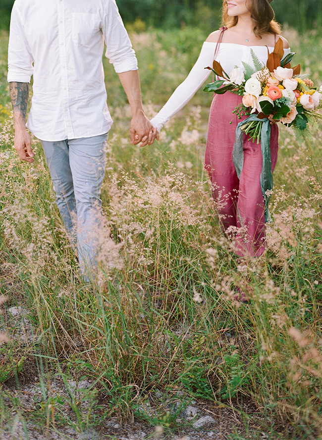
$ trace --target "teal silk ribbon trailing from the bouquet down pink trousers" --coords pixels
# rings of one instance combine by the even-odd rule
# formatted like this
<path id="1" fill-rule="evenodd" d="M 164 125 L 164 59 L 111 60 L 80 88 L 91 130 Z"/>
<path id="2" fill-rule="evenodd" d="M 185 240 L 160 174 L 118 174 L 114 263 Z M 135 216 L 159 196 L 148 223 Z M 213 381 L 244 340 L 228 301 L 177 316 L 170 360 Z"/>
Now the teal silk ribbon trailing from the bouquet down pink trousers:
<path id="1" fill-rule="evenodd" d="M 241 127 L 247 122 L 261 121 L 261 149 L 263 156 L 263 166 L 260 177 L 262 193 L 265 203 L 265 222 L 268 223 L 271 220 L 268 203 L 270 199 L 270 193 L 273 189 L 273 173 L 271 172 L 271 160 L 270 160 L 270 123 L 268 118 L 259 119 L 256 114 L 251 114 L 247 119 L 239 122 L 236 128 L 235 144 L 233 149 L 233 163 L 237 172 L 238 178 L 244 165 L 244 148 L 243 148 L 243 132 Z"/>

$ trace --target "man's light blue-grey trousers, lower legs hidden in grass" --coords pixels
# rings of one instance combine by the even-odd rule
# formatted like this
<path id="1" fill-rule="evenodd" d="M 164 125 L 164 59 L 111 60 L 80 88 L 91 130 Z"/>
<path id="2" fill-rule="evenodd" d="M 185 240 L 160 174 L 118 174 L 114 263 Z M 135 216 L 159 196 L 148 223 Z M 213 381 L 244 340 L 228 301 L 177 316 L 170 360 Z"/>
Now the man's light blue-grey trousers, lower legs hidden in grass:
<path id="1" fill-rule="evenodd" d="M 85 280 L 93 276 L 102 232 L 101 187 L 107 133 L 90 138 L 41 141 L 54 184 L 56 204 Z"/>

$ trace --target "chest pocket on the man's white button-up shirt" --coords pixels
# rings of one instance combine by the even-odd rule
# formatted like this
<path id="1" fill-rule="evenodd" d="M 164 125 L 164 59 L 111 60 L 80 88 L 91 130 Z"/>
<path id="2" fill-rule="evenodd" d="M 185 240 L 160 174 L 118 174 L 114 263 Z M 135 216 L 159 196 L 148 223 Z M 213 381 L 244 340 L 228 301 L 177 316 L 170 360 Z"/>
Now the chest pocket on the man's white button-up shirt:
<path id="1" fill-rule="evenodd" d="M 75 44 L 90 46 L 102 38 L 100 19 L 95 14 L 74 12 L 72 15 L 72 40 Z"/>

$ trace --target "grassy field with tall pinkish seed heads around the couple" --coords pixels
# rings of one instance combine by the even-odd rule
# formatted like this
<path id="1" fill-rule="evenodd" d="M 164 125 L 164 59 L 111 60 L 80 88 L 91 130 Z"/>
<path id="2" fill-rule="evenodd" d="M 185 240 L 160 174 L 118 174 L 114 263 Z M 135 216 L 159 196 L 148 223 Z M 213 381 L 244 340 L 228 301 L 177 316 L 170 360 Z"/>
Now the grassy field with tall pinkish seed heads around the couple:
<path id="1" fill-rule="evenodd" d="M 322 36 L 285 36 L 320 86 Z M 205 38 L 189 28 L 132 33 L 148 116 L 184 79 Z M 0 346 L 0 427 L 46 420 L 82 431 L 116 414 L 170 433 L 177 412 L 166 408 L 179 399 L 181 410 L 193 398 L 237 412 L 253 402 L 253 415 L 243 416 L 257 429 L 243 438 L 322 438 L 322 127 L 304 142 L 280 129 L 268 251 L 243 266 L 220 232 L 203 170 L 211 95 L 199 91 L 159 143 L 140 149 L 129 144 L 129 106 L 105 61 L 114 119 L 102 194 L 106 230 L 99 279 L 86 285 L 75 275 L 39 142 L 33 165 L 13 150 L 6 46 L 2 33 L 0 290 L 7 301 L 0 320 L 10 342 Z M 232 289 L 246 278 L 254 297 L 238 307 Z M 10 324 L 9 307 L 25 310 L 31 338 Z M 7 384 L 31 375 L 43 393 L 29 412 Z M 90 409 L 72 393 L 51 396 L 52 377 L 67 388 L 90 379 L 79 398 Z M 147 402 L 160 390 L 164 400 L 151 415 Z M 66 400 L 73 416 L 63 410 Z"/>

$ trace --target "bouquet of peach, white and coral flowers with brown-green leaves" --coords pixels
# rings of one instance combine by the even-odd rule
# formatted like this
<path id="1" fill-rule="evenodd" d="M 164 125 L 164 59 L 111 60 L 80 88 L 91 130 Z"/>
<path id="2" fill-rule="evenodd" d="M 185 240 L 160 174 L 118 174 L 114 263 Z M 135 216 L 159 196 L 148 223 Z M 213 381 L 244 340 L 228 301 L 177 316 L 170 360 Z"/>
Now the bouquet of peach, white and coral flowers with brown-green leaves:
<path id="1" fill-rule="evenodd" d="M 242 96 L 242 108 L 235 111 L 239 117 L 243 110 L 248 115 L 240 123 L 240 129 L 254 141 L 261 140 L 263 122 L 268 116 L 270 120 L 292 126 L 305 134 L 309 121 L 322 119 L 317 111 L 322 108 L 322 86 L 317 91 L 313 81 L 301 76 L 300 64 L 291 67 L 295 54 L 284 56 L 281 39 L 276 42 L 273 52 L 268 52 L 266 65 L 252 50 L 251 53 L 255 69 L 243 62 L 244 69 L 235 67 L 227 75 L 217 61 L 214 61 L 213 68 L 205 67 L 222 79 L 207 84 L 204 91 L 223 94 L 229 90 Z"/>

